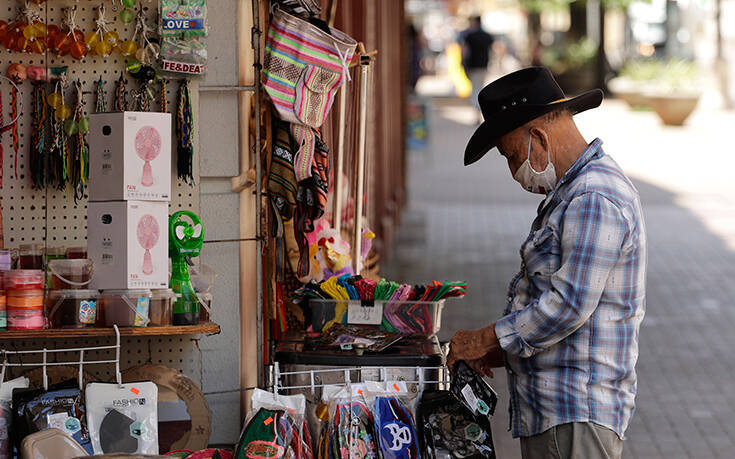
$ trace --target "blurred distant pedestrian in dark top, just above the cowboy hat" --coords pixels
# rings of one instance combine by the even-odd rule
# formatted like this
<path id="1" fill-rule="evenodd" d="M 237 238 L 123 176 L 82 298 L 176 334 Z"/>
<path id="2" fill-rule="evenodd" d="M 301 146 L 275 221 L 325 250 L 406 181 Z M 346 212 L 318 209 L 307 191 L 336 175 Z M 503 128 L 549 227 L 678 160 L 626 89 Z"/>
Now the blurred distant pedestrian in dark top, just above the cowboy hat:
<path id="1" fill-rule="evenodd" d="M 479 109 L 477 95 L 485 86 L 495 38 L 482 29 L 480 16 L 470 18 L 470 27 L 462 32 L 459 38 L 462 46 L 462 67 L 472 83 L 472 103 Z"/>

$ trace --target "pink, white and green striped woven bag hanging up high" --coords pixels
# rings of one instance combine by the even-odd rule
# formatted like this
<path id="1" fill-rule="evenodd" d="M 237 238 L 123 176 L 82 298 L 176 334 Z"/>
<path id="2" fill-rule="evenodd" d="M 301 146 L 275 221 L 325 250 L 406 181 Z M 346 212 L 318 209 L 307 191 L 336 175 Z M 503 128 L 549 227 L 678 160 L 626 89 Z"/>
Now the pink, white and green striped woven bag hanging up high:
<path id="1" fill-rule="evenodd" d="M 278 116 L 318 128 L 344 78 L 357 42 L 276 8 L 265 42 L 263 84 Z"/>

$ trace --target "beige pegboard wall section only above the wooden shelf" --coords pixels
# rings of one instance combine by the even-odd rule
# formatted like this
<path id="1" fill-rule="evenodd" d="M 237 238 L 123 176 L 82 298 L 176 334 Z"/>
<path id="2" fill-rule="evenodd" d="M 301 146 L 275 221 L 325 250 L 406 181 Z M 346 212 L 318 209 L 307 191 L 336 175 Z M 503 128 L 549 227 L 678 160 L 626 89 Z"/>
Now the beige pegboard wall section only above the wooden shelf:
<path id="1" fill-rule="evenodd" d="M 39 12 L 41 21 L 46 24 L 56 24 L 62 27 L 62 9 L 72 5 L 77 5 L 76 24 L 84 33 L 96 30 L 95 20 L 97 18 L 97 7 L 104 3 L 106 14 L 105 17 L 111 20 L 110 30 L 116 31 L 121 40 L 127 40 L 132 37 L 135 30 L 135 22 L 130 24 L 122 23 L 118 16 L 121 10 L 120 2 L 117 0 L 47 0 L 40 5 L 31 4 Z M 158 2 L 150 0 L 139 0 L 146 13 L 147 22 L 151 27 L 155 27 L 155 18 L 157 16 Z M 7 5 L 7 6 L 6 6 Z M 0 19 L 12 22 L 19 14 L 23 6 L 23 2 L 19 0 L 6 0 L 0 6 Z M 63 28 L 63 27 L 62 27 Z M 126 58 L 117 52 L 113 52 L 108 57 L 100 57 L 92 54 L 81 60 L 75 60 L 71 56 L 59 57 L 52 52 L 46 54 L 31 54 L 9 51 L 5 47 L 0 46 L 0 72 L 5 74 L 11 63 L 18 62 L 23 65 L 37 65 L 40 67 L 52 68 L 59 66 L 68 67 L 68 81 L 64 91 L 64 101 L 70 107 L 74 104 L 74 88 L 73 81 L 80 80 L 84 92 L 85 116 L 94 112 L 96 96 L 96 82 L 101 77 L 105 82 L 105 91 L 107 94 L 107 110 L 112 111 L 114 85 L 119 78 L 121 72 L 128 81 L 128 99 L 131 100 L 133 90 L 139 88 L 138 83 L 127 74 L 125 70 Z M 54 84 L 47 85 L 47 92 L 53 91 Z M 175 122 L 176 109 L 176 91 L 179 87 L 179 80 L 169 80 L 167 84 L 168 111 L 172 113 Z M 170 208 L 173 211 L 180 209 L 189 209 L 197 212 L 199 210 L 199 148 L 196 139 L 198 132 L 198 106 L 199 91 L 198 83 L 192 80 L 190 83 L 192 94 L 192 106 L 194 110 L 194 132 L 195 132 L 195 151 L 194 151 L 194 178 L 195 185 L 191 186 L 178 180 L 175 171 L 176 165 L 176 148 L 172 146 L 172 180 L 171 180 L 171 203 Z M 86 245 L 87 237 L 87 199 L 85 198 L 74 202 L 71 190 L 56 190 L 54 188 L 36 190 L 33 189 L 31 178 L 28 174 L 29 170 L 29 140 L 31 136 L 31 105 L 32 93 L 31 83 L 25 81 L 19 85 L 20 93 L 18 98 L 22 101 L 22 112 L 18 119 L 18 137 L 19 148 L 17 152 L 17 178 L 15 170 L 16 152 L 13 149 L 11 133 L 6 131 L 1 137 L 4 150 L 3 158 L 3 184 L 2 184 L 2 215 L 3 229 L 5 235 L 5 247 L 15 248 L 20 244 L 27 243 L 44 243 L 48 247 L 73 247 Z M 158 101 L 159 85 L 152 85 L 155 93 L 154 101 L 151 104 L 151 110 L 160 110 Z M 11 112 L 11 85 L 4 79 L 0 79 L 0 92 L 2 92 L 3 114 L 4 119 L 10 121 Z M 172 136 L 172 139 L 175 137 Z M 46 213 L 48 208 L 48 214 Z M 48 237 L 48 241 L 46 241 Z"/>

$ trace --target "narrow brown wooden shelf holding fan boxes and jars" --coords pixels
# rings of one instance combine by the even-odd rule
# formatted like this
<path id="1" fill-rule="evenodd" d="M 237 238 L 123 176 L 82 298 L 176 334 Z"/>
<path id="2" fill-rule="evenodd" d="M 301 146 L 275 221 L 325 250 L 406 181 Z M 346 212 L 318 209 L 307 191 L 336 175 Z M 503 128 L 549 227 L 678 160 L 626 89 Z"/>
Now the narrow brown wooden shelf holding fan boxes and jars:
<path id="1" fill-rule="evenodd" d="M 120 328 L 120 336 L 216 335 L 219 332 L 219 325 L 214 322 L 172 327 Z M 49 330 L 0 331 L 0 341 L 8 339 L 66 339 L 98 338 L 106 336 L 115 336 L 115 330 L 112 328 L 59 328 Z"/>

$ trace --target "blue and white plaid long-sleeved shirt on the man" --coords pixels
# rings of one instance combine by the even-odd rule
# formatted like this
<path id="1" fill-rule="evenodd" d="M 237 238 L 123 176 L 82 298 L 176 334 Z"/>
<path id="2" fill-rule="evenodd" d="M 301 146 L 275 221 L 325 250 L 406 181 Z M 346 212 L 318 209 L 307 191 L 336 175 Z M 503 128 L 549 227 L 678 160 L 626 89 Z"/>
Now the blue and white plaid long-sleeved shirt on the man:
<path id="1" fill-rule="evenodd" d="M 495 326 L 514 437 L 594 422 L 623 438 L 646 304 L 638 192 L 595 139 L 541 203 Z"/>

